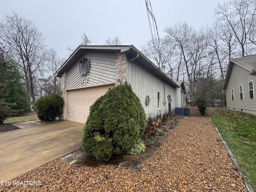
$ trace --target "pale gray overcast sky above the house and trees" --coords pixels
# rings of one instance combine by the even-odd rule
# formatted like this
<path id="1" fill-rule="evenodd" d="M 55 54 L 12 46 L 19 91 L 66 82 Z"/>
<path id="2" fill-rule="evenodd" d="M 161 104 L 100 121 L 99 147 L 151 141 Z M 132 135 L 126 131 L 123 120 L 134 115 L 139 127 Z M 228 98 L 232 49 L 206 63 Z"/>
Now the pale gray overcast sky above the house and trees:
<path id="1" fill-rule="evenodd" d="M 151 0 L 160 37 L 164 28 L 187 22 L 199 29 L 214 21 L 213 9 L 227 0 Z M 0 20 L 16 12 L 31 20 L 45 44 L 67 58 L 66 48 L 77 48 L 83 32 L 92 45 L 118 36 L 122 45 L 140 47 L 150 40 L 145 0 L 3 0 Z"/>

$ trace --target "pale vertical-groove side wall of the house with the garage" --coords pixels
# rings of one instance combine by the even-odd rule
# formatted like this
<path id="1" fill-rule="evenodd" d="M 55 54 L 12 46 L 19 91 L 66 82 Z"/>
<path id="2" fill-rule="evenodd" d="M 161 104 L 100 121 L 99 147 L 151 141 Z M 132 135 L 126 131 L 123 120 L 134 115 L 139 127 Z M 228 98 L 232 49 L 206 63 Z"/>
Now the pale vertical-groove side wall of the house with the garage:
<path id="1" fill-rule="evenodd" d="M 140 102 L 147 116 L 156 116 L 157 114 L 167 111 L 168 95 L 170 95 L 172 99 L 171 108 L 177 106 L 176 89 L 165 83 L 164 91 L 164 81 L 156 77 L 156 75 L 147 68 L 141 66 L 137 60 L 128 64 L 127 82 L 131 84 L 132 90 L 140 98 Z M 160 92 L 161 96 L 161 110 L 158 110 L 158 92 Z M 147 95 L 150 98 L 148 106 L 145 103 Z M 166 104 L 163 104 L 164 98 Z"/>

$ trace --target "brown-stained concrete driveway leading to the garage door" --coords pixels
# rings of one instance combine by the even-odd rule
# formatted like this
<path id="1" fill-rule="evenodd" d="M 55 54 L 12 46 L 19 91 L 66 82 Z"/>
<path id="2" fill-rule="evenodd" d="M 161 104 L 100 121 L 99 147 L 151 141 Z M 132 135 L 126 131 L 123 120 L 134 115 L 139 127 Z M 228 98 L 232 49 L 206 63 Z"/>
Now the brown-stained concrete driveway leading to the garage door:
<path id="1" fill-rule="evenodd" d="M 0 133 L 0 181 L 8 181 L 81 147 L 82 123 L 64 120 L 15 125 L 22 129 Z"/>

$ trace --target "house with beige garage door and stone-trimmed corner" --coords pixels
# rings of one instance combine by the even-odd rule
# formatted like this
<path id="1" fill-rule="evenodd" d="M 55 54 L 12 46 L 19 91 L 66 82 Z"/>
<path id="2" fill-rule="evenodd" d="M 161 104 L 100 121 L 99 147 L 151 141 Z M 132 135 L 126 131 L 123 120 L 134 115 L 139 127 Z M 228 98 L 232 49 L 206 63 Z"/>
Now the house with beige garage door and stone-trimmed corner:
<path id="1" fill-rule="evenodd" d="M 64 120 L 81 123 L 94 101 L 121 82 L 131 84 L 152 117 L 181 106 L 177 96 L 184 91 L 133 45 L 79 46 L 55 76 L 61 77 Z"/>

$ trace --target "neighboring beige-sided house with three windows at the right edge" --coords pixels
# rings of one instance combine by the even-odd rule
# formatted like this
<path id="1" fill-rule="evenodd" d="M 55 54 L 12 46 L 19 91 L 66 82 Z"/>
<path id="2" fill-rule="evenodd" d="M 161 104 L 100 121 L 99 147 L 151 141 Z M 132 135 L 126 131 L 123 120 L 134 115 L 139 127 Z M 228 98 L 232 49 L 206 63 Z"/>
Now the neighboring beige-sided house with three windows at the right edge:
<path id="1" fill-rule="evenodd" d="M 256 55 L 230 59 L 222 91 L 227 108 L 256 114 Z"/>

